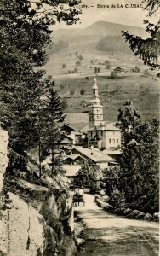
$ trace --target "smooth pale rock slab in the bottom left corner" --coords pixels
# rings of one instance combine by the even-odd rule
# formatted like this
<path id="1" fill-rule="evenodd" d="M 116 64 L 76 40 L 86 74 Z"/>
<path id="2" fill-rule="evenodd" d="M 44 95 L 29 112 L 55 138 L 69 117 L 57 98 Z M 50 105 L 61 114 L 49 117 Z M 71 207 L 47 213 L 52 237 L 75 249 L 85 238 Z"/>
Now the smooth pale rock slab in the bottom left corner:
<path id="1" fill-rule="evenodd" d="M 44 219 L 37 210 L 9 193 L 10 207 L 3 210 L 0 226 L 0 254 L 23 256 L 43 255 Z"/>

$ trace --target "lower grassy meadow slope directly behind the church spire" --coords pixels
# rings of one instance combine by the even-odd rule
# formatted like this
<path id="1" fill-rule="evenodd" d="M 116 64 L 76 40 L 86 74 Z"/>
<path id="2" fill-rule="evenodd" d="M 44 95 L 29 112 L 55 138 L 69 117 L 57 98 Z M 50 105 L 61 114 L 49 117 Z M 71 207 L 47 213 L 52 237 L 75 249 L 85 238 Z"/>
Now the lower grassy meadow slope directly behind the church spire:
<path id="1" fill-rule="evenodd" d="M 89 80 L 85 78 L 56 79 L 56 88 L 60 90 L 59 84 L 69 84 L 69 90 L 74 89 L 74 96 L 69 96 L 68 90 L 60 90 L 60 95 L 66 97 L 68 108 L 66 112 L 83 112 L 87 107 L 81 107 L 80 102 L 89 102 L 91 96 L 93 77 Z M 110 79 L 109 77 L 99 76 L 97 78 L 100 92 L 100 100 L 104 106 L 104 118 L 106 120 L 117 120 L 117 110 L 127 100 L 132 100 L 134 105 L 140 109 L 144 120 L 158 118 L 159 115 L 159 95 L 158 81 L 143 75 L 121 77 Z M 106 90 L 106 84 L 108 89 Z M 121 86 L 117 90 L 117 85 Z M 86 93 L 81 96 L 79 91 L 85 88 Z"/>

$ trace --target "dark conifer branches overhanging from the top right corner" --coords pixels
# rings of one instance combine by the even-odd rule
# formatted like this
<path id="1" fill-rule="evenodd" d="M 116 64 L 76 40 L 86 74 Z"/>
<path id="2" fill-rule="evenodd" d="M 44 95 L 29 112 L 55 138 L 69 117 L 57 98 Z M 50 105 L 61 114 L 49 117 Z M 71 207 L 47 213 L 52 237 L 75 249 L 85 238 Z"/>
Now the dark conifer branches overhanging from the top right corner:
<path id="1" fill-rule="evenodd" d="M 144 0 L 144 3 L 146 3 L 144 9 L 148 11 L 149 16 L 153 15 L 160 6 L 159 0 Z M 160 20 L 158 20 L 156 24 L 149 22 L 149 20 L 143 21 L 144 24 L 146 24 L 146 32 L 149 33 L 150 37 L 143 39 L 124 31 L 122 32 L 123 37 L 129 42 L 129 48 L 134 52 L 134 55 L 138 55 L 151 69 L 159 68 Z"/>

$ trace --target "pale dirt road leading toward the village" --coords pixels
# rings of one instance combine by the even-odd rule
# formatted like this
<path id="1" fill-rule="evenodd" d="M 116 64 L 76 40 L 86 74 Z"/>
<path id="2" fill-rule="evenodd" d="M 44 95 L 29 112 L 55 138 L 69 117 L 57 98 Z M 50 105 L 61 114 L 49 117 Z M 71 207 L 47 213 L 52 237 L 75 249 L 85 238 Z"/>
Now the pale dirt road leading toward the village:
<path id="1" fill-rule="evenodd" d="M 86 205 L 75 207 L 86 228 L 77 256 L 157 256 L 158 224 L 130 220 L 105 212 L 85 195 Z"/>

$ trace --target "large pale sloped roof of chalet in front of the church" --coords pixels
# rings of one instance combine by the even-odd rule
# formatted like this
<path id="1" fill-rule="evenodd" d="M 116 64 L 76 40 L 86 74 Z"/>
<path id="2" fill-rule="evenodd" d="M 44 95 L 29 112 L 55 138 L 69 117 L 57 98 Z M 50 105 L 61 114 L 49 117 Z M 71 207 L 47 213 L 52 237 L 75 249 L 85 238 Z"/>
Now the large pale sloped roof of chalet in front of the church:
<path id="1" fill-rule="evenodd" d="M 74 147 L 79 153 L 83 154 L 84 157 L 97 162 L 114 162 L 115 160 L 108 154 L 103 153 L 99 148 L 83 148 L 80 146 Z"/>

